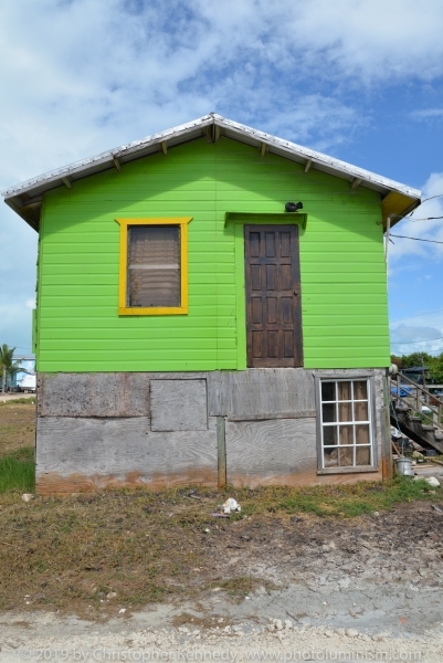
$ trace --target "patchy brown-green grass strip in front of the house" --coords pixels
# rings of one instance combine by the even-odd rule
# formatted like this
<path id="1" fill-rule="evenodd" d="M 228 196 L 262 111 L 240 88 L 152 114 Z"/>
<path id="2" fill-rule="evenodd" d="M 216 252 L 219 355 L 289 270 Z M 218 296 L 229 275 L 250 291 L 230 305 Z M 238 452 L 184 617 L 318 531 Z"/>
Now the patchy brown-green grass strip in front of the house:
<path id="1" fill-rule="evenodd" d="M 441 491 L 432 495 L 428 490 L 423 481 L 404 477 L 386 484 L 230 490 L 242 505 L 230 519 L 211 517 L 226 493 L 210 488 L 109 490 L 36 496 L 30 503 L 18 491 L 3 493 L 0 609 L 22 609 L 29 600 L 29 609 L 96 617 L 214 587 L 244 597 L 255 583 L 263 585 L 251 573 L 251 556 L 293 555 L 294 541 L 313 536 L 313 528 L 325 537 L 338 522 L 351 528 L 355 516 L 401 502 L 440 499 Z M 282 536 L 283 547 L 276 548 Z M 241 560 L 239 568 L 230 566 L 233 557 Z"/>

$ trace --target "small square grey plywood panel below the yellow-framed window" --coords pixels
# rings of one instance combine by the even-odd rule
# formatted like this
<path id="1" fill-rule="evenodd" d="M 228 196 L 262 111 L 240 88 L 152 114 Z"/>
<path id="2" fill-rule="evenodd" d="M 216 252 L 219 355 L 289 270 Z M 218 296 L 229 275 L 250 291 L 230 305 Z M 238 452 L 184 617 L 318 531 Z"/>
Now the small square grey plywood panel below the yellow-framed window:
<path id="1" fill-rule="evenodd" d="M 152 431 L 205 431 L 205 380 L 151 380 Z"/>

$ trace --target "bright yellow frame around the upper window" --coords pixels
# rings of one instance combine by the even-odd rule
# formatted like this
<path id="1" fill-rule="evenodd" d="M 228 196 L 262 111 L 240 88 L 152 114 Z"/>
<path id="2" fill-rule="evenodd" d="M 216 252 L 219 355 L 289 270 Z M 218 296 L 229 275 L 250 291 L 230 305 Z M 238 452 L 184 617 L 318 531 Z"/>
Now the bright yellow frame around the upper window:
<path id="1" fill-rule="evenodd" d="M 120 227 L 118 315 L 183 315 L 188 313 L 188 223 L 192 217 L 116 219 Z M 180 225 L 180 306 L 127 306 L 128 228 L 130 225 Z"/>

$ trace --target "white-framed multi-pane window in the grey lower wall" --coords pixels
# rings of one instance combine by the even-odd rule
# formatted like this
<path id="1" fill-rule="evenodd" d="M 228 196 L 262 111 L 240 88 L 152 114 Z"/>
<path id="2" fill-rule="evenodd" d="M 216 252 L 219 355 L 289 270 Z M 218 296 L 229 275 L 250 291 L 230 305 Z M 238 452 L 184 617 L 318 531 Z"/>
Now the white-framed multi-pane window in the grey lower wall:
<path id="1" fill-rule="evenodd" d="M 318 472 L 377 470 L 373 380 L 317 378 Z"/>

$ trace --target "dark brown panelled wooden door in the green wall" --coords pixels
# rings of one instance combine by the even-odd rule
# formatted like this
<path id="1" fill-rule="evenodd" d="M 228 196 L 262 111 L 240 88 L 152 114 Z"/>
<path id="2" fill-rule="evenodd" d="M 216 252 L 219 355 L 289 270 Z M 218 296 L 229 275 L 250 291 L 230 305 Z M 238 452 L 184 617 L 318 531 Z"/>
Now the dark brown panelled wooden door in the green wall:
<path id="1" fill-rule="evenodd" d="M 247 366 L 303 366 L 298 225 L 245 225 Z"/>

